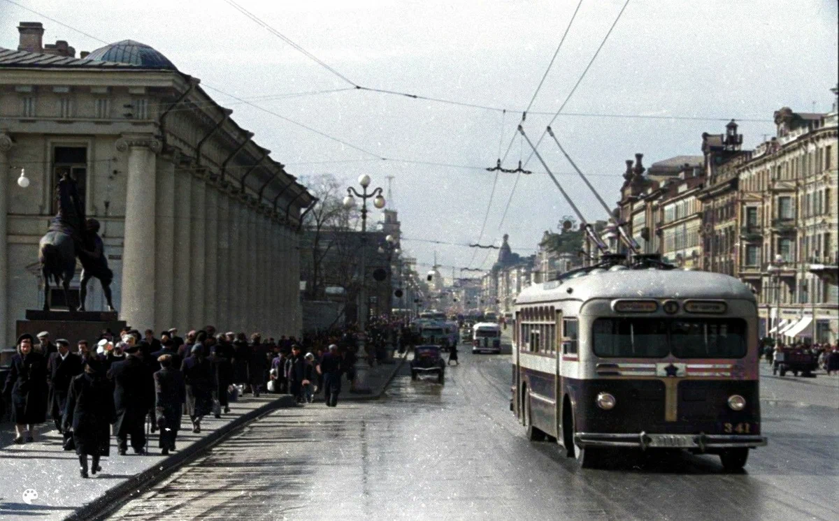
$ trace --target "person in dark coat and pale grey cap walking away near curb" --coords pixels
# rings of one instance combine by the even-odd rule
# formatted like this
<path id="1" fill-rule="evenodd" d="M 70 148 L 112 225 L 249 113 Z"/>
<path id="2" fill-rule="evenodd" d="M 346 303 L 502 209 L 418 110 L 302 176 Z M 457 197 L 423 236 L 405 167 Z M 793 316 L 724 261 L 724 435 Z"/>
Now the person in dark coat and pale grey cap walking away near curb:
<path id="1" fill-rule="evenodd" d="M 177 353 L 175 353 L 177 356 Z M 155 405 L 157 409 L 160 453 L 164 456 L 175 450 L 175 438 L 180 430 L 180 416 L 186 402 L 184 374 L 172 367 L 171 354 L 160 355 L 160 370 L 154 373 Z"/>

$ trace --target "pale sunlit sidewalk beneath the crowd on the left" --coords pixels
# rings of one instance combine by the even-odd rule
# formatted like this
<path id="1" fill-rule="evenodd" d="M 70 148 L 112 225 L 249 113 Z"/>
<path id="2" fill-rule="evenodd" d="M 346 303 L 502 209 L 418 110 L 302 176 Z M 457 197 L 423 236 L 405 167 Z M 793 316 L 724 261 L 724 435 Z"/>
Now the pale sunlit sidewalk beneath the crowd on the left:
<path id="1" fill-rule="evenodd" d="M 367 369 L 368 395 L 341 392 L 341 400 L 375 400 L 404 363 L 407 353 L 394 354 L 393 364 Z M 0 519 L 86 519 L 109 503 L 118 503 L 130 493 L 142 490 L 149 480 L 171 471 L 191 457 L 215 444 L 238 427 L 279 408 L 294 408 L 289 395 L 245 396 L 230 405 L 231 412 L 220 420 L 208 416 L 201 423 L 201 434 L 193 434 L 189 419 L 178 435 L 178 451 L 160 456 L 157 435 L 149 435 L 149 456 L 117 456 L 112 437 L 111 457 L 102 459 L 102 472 L 88 479 L 79 477 L 75 451 L 61 448 L 61 436 L 52 422 L 39 426 L 34 443 L 15 445 L 13 425 L 0 423 Z M 315 405 L 316 406 L 316 405 Z M 34 490 L 37 498 L 24 498 Z M 31 498 L 28 495 L 27 498 Z M 31 504 L 30 504 L 31 503 Z M 80 510 L 81 509 L 81 510 Z"/>

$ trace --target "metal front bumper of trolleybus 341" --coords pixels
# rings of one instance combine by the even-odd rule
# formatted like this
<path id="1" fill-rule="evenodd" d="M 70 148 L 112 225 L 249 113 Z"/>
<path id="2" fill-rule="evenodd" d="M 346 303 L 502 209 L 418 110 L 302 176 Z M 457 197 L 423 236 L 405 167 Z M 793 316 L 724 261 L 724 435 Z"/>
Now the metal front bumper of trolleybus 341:
<path id="1" fill-rule="evenodd" d="M 727 434 L 606 434 L 579 432 L 574 435 L 576 445 L 587 447 L 634 447 L 642 451 L 655 449 L 693 449 L 700 452 L 714 449 L 754 448 L 766 445 L 766 436 Z"/>

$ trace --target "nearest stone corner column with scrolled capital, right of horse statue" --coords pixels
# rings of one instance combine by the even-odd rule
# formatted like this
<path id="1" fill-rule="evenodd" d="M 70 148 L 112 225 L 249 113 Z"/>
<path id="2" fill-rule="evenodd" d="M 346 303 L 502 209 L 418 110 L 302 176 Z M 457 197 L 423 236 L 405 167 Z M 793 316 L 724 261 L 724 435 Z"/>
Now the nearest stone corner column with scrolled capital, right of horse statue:
<path id="1" fill-rule="evenodd" d="M 117 140 L 117 151 L 128 151 L 128 195 L 122 247 L 122 318 L 142 331 L 155 325 L 155 154 L 160 151 L 160 142 L 152 137 L 121 137 Z"/>

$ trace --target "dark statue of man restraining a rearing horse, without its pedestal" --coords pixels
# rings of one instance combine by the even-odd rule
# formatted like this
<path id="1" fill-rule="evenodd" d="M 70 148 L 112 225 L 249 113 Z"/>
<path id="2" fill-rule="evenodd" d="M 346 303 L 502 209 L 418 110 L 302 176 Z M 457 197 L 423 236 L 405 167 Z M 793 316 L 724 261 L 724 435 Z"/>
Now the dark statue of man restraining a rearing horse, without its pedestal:
<path id="1" fill-rule="evenodd" d="M 67 307 L 70 303 L 70 280 L 76 273 L 76 257 L 81 262 L 81 291 L 79 311 L 85 311 L 87 282 L 96 277 L 110 311 L 116 311 L 111 297 L 113 272 L 107 267 L 107 257 L 99 236 L 99 221 L 85 219 L 84 205 L 79 197 L 76 180 L 70 173 L 62 174 L 56 191 L 58 213 L 50 221 L 49 231 L 41 237 L 38 260 L 44 276 L 44 311 L 50 311 L 50 279 L 64 288 Z"/>

